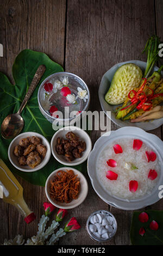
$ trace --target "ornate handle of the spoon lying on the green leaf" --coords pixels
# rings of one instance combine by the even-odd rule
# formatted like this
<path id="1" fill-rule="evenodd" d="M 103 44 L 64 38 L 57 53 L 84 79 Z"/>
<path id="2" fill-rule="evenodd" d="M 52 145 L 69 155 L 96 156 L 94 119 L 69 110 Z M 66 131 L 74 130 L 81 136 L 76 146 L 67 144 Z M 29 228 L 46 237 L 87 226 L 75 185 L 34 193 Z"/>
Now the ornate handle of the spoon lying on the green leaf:
<path id="1" fill-rule="evenodd" d="M 39 68 L 37 69 L 34 78 L 32 80 L 32 83 L 29 86 L 28 92 L 26 93 L 26 96 L 24 97 L 24 100 L 22 101 L 22 104 L 20 106 L 20 109 L 18 109 L 18 114 L 22 113 L 23 108 L 26 106 L 27 101 L 29 100 L 30 96 L 33 94 L 34 89 L 36 88 L 37 84 L 39 83 L 43 73 L 46 70 L 46 66 L 45 65 L 41 65 L 39 66 Z"/>

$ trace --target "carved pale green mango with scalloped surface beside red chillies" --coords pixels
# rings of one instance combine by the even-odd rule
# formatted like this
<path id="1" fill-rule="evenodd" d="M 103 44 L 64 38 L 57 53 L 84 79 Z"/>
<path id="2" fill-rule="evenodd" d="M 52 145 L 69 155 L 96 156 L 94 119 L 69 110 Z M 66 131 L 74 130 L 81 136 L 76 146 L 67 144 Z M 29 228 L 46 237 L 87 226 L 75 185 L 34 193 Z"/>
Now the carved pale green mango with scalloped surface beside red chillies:
<path id="1" fill-rule="evenodd" d="M 111 105 L 118 105 L 126 100 L 130 90 L 140 86 L 142 71 L 139 66 L 128 63 L 120 66 L 112 78 L 105 101 Z"/>

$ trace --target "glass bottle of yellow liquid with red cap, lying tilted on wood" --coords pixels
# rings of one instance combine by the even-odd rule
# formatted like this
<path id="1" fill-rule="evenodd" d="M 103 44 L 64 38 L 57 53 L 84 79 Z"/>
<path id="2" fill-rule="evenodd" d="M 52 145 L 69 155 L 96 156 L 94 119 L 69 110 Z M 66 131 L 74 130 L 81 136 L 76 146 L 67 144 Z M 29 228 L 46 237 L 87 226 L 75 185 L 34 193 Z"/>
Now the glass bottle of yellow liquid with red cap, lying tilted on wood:
<path id="1" fill-rule="evenodd" d="M 34 213 L 29 210 L 24 201 L 22 186 L 2 159 L 0 159 L 0 185 L 4 202 L 14 205 L 27 223 L 35 220 Z"/>

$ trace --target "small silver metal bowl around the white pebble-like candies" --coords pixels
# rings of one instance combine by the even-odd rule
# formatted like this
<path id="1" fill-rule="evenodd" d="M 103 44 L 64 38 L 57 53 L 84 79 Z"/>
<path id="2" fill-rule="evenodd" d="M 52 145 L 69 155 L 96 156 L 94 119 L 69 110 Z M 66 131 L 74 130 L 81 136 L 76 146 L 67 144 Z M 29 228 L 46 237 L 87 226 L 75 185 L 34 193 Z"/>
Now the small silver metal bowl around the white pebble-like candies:
<path id="1" fill-rule="evenodd" d="M 89 224 L 90 224 L 90 218 L 97 214 L 98 212 L 106 212 L 107 214 L 109 214 L 113 219 L 114 219 L 114 223 L 115 223 L 115 231 L 114 231 L 114 235 L 112 235 L 111 237 L 109 237 L 108 239 L 98 239 L 96 236 L 93 236 L 90 229 L 89 229 Z M 86 230 L 87 230 L 87 233 L 90 235 L 91 239 L 92 240 L 95 240 L 97 242 L 106 242 L 106 241 L 109 241 L 111 240 L 115 234 L 116 234 L 116 231 L 117 231 L 117 221 L 116 221 L 116 218 L 113 214 L 111 214 L 110 211 L 106 211 L 106 210 L 98 210 L 98 211 L 95 211 L 93 212 L 88 218 L 87 218 L 87 222 L 86 222 Z"/>

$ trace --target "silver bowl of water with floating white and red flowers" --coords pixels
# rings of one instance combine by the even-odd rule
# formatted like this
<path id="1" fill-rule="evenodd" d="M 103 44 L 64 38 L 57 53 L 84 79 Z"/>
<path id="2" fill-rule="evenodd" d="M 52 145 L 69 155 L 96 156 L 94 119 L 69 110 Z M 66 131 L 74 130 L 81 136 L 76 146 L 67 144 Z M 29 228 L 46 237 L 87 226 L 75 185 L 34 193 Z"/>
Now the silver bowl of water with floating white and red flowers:
<path id="1" fill-rule="evenodd" d="M 38 94 L 37 94 L 37 99 L 39 102 L 39 108 L 41 113 L 43 114 L 43 116 L 51 123 L 53 123 L 54 120 L 58 120 L 59 123 L 63 123 L 65 124 L 66 122 L 70 122 L 71 120 L 73 120 L 74 118 L 54 118 L 52 117 L 52 115 L 43 107 L 43 93 L 45 93 L 45 90 L 43 89 L 44 84 L 48 81 L 51 82 L 54 80 L 59 80 L 61 81 L 62 78 L 64 77 L 68 77 L 68 83 L 70 84 L 70 86 L 68 86 L 71 89 L 71 92 L 77 95 L 77 88 L 80 87 L 83 90 L 87 90 L 87 95 L 88 95 L 88 99 L 86 102 L 82 101 L 82 103 L 80 104 L 80 113 L 78 115 L 78 117 L 81 117 L 82 111 L 87 111 L 87 109 L 89 108 L 89 104 L 90 104 L 90 91 L 89 88 L 87 87 L 86 83 L 82 80 L 82 78 L 80 78 L 77 75 L 68 73 L 68 72 L 58 72 L 55 74 L 52 74 L 50 76 L 48 76 L 40 85 Z M 57 94 L 56 94 L 57 95 Z M 55 99 L 55 95 L 53 95 L 54 99 Z M 56 96 L 57 97 L 57 96 Z M 58 98 L 59 99 L 59 98 Z M 58 111 L 61 111 L 61 109 L 59 109 L 58 107 Z M 61 111 L 62 112 L 62 111 Z M 70 111 L 71 112 L 71 111 Z"/>

